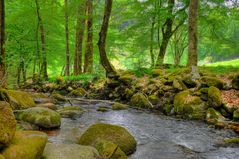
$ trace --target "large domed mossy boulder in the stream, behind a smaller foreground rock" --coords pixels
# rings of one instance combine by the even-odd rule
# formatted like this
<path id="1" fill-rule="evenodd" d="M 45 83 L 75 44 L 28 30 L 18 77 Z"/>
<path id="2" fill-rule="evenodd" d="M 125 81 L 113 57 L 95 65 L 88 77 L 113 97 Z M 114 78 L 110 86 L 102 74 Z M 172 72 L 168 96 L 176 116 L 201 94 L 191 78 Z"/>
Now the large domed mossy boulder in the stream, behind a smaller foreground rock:
<path id="1" fill-rule="evenodd" d="M 125 128 L 105 123 L 91 125 L 79 138 L 78 143 L 96 147 L 99 140 L 113 142 L 127 155 L 136 150 L 136 140 Z"/>

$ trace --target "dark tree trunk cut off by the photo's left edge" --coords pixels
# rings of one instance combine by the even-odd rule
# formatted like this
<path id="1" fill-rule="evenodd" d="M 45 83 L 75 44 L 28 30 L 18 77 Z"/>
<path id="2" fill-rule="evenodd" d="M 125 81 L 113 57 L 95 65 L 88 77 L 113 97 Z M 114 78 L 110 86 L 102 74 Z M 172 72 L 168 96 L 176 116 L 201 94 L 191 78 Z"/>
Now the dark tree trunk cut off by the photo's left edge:
<path id="1" fill-rule="evenodd" d="M 0 0 L 0 87 L 7 86 L 5 63 L 5 9 L 4 0 Z"/>

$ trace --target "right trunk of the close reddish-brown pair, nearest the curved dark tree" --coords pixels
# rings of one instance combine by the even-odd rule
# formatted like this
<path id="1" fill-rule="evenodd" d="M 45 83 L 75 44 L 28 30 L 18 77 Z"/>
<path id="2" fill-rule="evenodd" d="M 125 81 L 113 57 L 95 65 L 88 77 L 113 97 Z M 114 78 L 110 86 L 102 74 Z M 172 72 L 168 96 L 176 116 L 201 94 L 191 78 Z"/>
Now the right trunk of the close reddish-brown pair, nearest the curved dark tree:
<path id="1" fill-rule="evenodd" d="M 91 73 L 93 71 L 93 0 L 87 0 L 87 43 L 84 60 L 84 72 Z"/>

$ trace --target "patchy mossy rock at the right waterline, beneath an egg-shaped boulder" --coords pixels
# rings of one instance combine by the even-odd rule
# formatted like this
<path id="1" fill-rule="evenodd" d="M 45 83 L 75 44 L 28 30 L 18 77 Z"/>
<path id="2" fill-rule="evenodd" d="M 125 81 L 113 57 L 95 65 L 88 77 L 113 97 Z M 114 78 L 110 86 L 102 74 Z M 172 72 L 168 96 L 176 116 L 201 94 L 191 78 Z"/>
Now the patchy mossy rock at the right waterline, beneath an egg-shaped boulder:
<path id="1" fill-rule="evenodd" d="M 213 108 L 208 108 L 206 121 L 209 124 L 217 124 L 218 122 L 224 121 L 225 118 L 221 115 L 220 112 L 216 111 Z"/>

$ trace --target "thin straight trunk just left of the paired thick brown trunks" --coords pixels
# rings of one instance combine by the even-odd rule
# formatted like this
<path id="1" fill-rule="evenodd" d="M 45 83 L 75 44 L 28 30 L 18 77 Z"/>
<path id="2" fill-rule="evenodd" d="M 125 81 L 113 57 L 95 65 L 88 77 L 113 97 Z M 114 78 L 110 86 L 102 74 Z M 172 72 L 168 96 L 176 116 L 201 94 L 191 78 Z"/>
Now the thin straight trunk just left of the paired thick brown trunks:
<path id="1" fill-rule="evenodd" d="M 65 33 L 66 33 L 66 68 L 65 75 L 70 75 L 70 49 L 69 49 L 69 28 L 68 28 L 68 0 L 65 0 Z"/>

